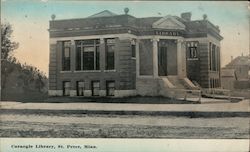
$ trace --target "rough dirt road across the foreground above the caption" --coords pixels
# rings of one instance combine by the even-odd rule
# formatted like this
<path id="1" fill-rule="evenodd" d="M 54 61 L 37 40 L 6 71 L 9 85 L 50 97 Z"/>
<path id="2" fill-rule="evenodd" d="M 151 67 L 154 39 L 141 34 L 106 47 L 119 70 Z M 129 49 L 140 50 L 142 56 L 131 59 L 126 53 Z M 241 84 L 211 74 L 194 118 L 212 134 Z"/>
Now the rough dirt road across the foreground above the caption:
<path id="1" fill-rule="evenodd" d="M 1 114 L 1 137 L 249 138 L 249 118 Z"/>

